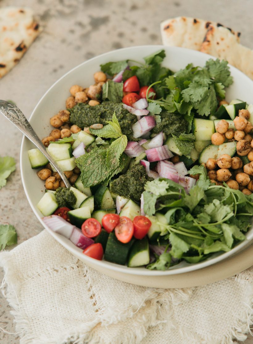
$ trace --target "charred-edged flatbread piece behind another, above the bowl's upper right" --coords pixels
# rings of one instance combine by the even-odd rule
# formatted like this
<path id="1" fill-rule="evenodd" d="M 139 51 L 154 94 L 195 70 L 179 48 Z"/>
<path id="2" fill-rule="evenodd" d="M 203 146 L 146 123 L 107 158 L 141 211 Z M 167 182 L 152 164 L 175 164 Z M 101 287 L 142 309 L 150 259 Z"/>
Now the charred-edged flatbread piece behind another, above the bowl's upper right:
<path id="1" fill-rule="evenodd" d="M 163 44 L 200 50 L 209 25 L 222 26 L 215 22 L 190 17 L 167 19 L 161 23 L 160 27 Z M 233 34 L 235 39 L 239 41 L 239 32 L 234 32 L 229 28 L 225 30 Z"/>

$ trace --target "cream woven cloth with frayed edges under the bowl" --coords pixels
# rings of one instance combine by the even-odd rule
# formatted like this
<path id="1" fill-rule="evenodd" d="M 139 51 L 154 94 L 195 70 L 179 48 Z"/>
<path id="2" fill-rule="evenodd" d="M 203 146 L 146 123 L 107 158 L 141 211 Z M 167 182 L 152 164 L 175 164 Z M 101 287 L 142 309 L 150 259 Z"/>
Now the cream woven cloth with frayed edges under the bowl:
<path id="1" fill-rule="evenodd" d="M 0 254 L 21 344 L 227 344 L 252 325 L 253 268 L 187 289 L 135 286 L 85 266 L 43 230 Z"/>

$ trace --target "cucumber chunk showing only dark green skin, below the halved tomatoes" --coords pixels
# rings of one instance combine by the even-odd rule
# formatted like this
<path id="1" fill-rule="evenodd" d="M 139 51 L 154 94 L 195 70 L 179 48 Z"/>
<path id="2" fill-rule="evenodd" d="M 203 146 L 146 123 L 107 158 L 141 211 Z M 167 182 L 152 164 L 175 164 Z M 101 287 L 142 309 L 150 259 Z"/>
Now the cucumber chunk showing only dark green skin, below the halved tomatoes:
<path id="1" fill-rule="evenodd" d="M 133 240 L 129 241 L 127 244 L 121 243 L 114 231 L 109 234 L 106 250 L 104 252 L 104 259 L 112 263 L 125 265 L 128 258 L 128 252 L 132 246 Z"/>

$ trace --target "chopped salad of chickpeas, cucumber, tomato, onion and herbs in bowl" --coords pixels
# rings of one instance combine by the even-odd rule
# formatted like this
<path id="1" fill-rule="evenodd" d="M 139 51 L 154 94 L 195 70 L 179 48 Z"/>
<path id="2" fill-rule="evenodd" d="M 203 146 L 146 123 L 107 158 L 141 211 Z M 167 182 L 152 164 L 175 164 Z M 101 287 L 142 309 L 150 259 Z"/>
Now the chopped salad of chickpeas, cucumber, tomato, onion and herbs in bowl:
<path id="1" fill-rule="evenodd" d="M 225 101 L 227 62 L 173 72 L 160 50 L 73 85 L 37 149 L 44 223 L 95 259 L 165 270 L 227 252 L 253 215 L 253 105 Z"/>

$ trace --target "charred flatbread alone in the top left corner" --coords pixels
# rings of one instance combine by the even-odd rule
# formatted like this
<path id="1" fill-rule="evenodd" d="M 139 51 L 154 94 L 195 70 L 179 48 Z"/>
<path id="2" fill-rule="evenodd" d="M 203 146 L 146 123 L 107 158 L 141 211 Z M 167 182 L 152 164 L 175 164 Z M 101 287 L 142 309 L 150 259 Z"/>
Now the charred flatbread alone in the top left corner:
<path id="1" fill-rule="evenodd" d="M 40 32 L 31 9 L 0 9 L 0 78 L 19 62 Z"/>

